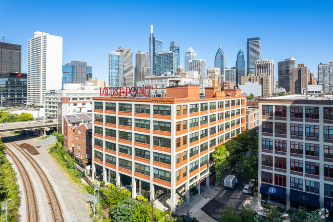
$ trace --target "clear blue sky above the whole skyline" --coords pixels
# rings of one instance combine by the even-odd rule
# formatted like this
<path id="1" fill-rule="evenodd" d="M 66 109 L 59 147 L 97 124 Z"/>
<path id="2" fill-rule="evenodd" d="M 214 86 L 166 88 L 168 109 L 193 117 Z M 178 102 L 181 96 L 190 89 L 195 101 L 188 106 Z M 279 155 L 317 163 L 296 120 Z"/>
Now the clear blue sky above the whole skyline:
<path id="1" fill-rule="evenodd" d="M 27 72 L 27 40 L 35 31 L 63 37 L 63 64 L 85 61 L 93 77 L 108 79 L 108 53 L 118 46 L 149 51 L 150 25 L 163 41 L 214 67 L 221 39 L 226 66 L 235 66 L 246 38 L 260 37 L 262 58 L 278 62 L 294 57 L 310 71 L 333 61 L 333 1 L 14 1 L 2 0 L 0 34 L 22 45 L 22 72 Z"/>

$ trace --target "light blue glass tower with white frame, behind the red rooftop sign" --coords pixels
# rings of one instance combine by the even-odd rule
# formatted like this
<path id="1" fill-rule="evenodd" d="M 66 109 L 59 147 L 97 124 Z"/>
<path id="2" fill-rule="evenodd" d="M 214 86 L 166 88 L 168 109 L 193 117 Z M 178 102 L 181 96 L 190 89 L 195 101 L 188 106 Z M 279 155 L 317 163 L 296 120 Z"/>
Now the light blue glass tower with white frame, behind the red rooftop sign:
<path id="1" fill-rule="evenodd" d="M 123 86 L 123 55 L 120 52 L 109 52 L 109 86 Z"/>

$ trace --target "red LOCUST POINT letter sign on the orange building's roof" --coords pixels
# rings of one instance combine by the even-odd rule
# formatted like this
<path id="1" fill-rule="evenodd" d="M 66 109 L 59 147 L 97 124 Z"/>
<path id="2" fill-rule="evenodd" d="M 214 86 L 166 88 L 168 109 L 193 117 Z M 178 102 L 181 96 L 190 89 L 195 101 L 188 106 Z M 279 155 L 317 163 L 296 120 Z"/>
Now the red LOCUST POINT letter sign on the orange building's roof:
<path id="1" fill-rule="evenodd" d="M 99 88 L 100 96 L 150 97 L 151 86 L 145 87 L 105 87 Z"/>

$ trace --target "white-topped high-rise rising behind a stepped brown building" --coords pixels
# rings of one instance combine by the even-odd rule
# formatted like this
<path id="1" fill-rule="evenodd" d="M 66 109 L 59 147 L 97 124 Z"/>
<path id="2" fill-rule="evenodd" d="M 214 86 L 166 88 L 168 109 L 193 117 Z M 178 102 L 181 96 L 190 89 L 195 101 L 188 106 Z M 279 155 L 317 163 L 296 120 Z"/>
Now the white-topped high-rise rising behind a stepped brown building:
<path id="1" fill-rule="evenodd" d="M 275 91 L 275 72 L 274 72 L 275 62 L 268 59 L 258 59 L 255 62 L 255 74 L 260 76 L 261 74 L 269 75 L 272 79 L 272 87 L 270 89 L 270 94 L 272 95 Z"/>

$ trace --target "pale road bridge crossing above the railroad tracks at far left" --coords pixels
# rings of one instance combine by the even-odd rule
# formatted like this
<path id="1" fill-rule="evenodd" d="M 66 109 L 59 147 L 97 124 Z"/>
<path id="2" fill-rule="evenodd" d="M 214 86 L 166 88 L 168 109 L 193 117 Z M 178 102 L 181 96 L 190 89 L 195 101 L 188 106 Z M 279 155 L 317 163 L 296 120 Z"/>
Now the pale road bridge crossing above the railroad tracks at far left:
<path id="1" fill-rule="evenodd" d="M 57 127 L 57 119 L 51 119 L 53 123 L 45 123 L 46 120 L 43 120 L 41 124 L 35 124 L 36 121 L 29 122 L 15 122 L 15 123 L 1 123 L 0 124 L 0 133 L 11 132 L 11 131 L 24 131 L 24 130 L 45 130 L 46 128 Z"/>

